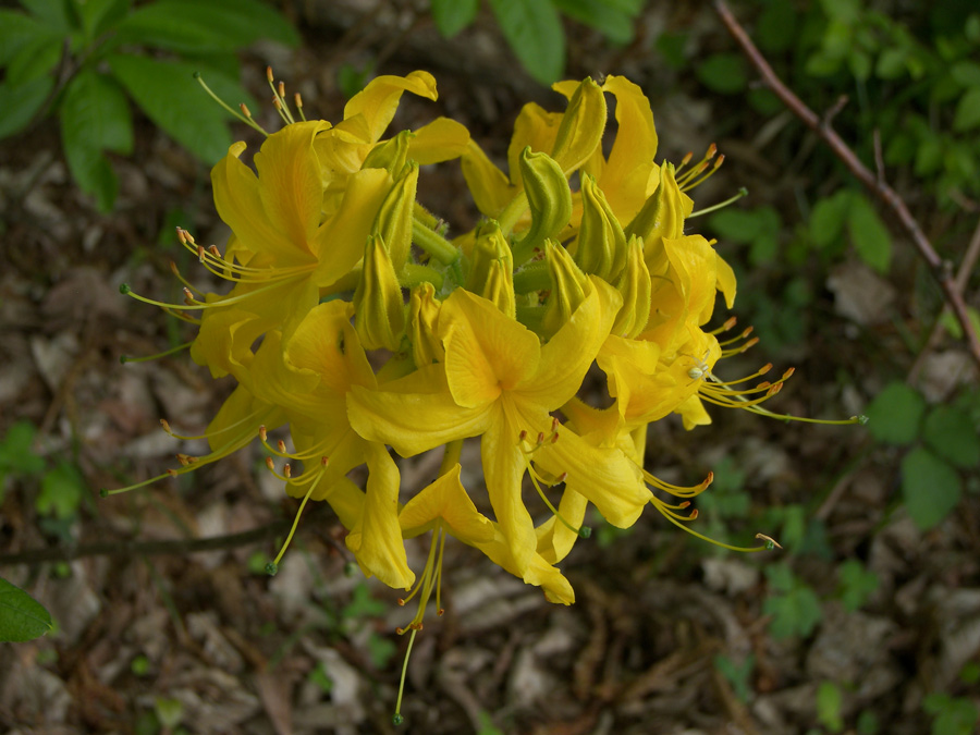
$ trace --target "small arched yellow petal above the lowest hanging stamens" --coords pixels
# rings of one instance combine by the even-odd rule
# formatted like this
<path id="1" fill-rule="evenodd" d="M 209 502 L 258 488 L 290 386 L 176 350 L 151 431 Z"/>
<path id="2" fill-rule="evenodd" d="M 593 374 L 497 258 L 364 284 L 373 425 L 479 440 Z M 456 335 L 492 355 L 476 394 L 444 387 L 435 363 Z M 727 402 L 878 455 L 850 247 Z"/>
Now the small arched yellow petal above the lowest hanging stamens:
<path id="1" fill-rule="evenodd" d="M 460 481 L 460 465 L 455 465 L 405 503 L 399 514 L 405 538 L 428 530 L 436 520 L 444 523 L 464 543 L 481 543 L 493 538 L 493 524 L 476 510 Z"/>

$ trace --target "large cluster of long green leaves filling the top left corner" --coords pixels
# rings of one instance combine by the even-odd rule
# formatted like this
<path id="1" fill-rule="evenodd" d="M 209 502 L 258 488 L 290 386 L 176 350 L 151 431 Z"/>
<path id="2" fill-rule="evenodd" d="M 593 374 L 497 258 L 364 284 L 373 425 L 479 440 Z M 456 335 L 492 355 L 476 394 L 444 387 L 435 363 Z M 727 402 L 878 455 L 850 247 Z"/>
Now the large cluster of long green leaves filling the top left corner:
<path id="1" fill-rule="evenodd" d="M 241 88 L 235 50 L 296 32 L 260 0 L 21 0 L 0 10 L 0 139 L 57 115 L 69 170 L 99 209 L 119 182 L 107 152 L 133 151 L 132 99 L 205 163 L 228 152 L 226 114 L 196 95 L 199 71 L 225 99 Z"/>

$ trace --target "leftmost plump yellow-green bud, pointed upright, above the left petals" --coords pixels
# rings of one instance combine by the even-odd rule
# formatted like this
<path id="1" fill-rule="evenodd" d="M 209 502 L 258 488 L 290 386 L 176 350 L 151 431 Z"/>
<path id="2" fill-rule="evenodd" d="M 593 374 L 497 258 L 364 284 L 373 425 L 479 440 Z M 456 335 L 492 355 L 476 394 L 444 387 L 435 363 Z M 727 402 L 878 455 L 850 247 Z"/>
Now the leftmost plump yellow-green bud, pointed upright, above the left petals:
<path id="1" fill-rule="evenodd" d="M 354 329 L 367 350 L 397 352 L 405 332 L 405 305 L 381 235 L 370 235 L 364 248 L 364 268 L 354 291 Z"/>

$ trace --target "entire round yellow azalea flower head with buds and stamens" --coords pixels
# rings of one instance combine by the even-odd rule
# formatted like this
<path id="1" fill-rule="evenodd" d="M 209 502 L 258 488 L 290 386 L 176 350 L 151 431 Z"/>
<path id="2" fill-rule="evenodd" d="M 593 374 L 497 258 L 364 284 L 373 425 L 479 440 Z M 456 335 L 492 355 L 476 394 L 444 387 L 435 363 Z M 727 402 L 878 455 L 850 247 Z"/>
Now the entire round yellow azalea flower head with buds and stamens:
<path id="1" fill-rule="evenodd" d="M 286 124 L 255 171 L 236 143 L 211 173 L 232 230 L 224 252 L 179 231 L 232 287 L 203 294 L 177 273 L 186 299 L 162 306 L 199 326 L 192 356 L 237 389 L 207 429 L 211 452 L 181 455 L 169 474 L 260 439 L 289 494 L 333 507 L 364 573 L 418 597 L 413 632 L 433 592 L 439 607 L 446 536 L 568 604 L 556 564 L 588 536 L 590 504 L 621 528 L 652 504 L 689 530 L 686 509 L 711 477 L 677 487 L 647 471 L 647 425 L 672 413 L 707 424 L 705 403 L 769 414 L 759 404 L 788 377 L 750 388 L 739 384 L 770 366 L 714 377 L 752 342 L 748 330 L 719 341 L 734 319 L 705 329 L 716 292 L 728 307 L 735 298 L 732 269 L 689 226 L 687 192 L 718 168 L 714 147 L 695 166 L 657 163 L 638 86 L 609 76 L 555 89 L 565 112 L 526 106 L 504 172 L 449 119 L 383 137 L 404 93 L 436 99 L 428 73 L 373 79 L 335 125 L 295 121 L 273 87 Z M 607 156 L 608 95 L 618 124 Z M 450 240 L 417 187 L 420 164 L 453 159 L 483 219 Z M 590 405 L 592 363 L 609 407 Z M 270 443 L 273 429 L 291 442 Z M 479 438 L 483 477 L 470 487 L 467 438 Z M 402 487 L 389 446 L 404 457 L 444 446 L 438 476 Z M 364 488 L 347 477 L 360 465 Z M 404 539 L 429 531 L 426 565 L 413 569 Z"/>

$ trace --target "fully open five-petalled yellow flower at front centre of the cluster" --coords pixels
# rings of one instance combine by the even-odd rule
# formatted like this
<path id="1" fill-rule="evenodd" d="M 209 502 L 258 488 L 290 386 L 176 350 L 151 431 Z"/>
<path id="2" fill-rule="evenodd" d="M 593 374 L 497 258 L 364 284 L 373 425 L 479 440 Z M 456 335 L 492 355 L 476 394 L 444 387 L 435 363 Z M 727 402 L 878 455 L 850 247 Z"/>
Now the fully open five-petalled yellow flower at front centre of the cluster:
<path id="1" fill-rule="evenodd" d="M 554 431 L 550 412 L 578 390 L 618 308 L 611 286 L 592 280 L 591 292 L 544 345 L 491 302 L 457 289 L 439 316 L 445 363 L 425 366 L 378 391 L 354 387 L 351 424 L 366 439 L 403 456 L 480 436 L 490 503 L 519 576 L 536 575 L 535 526 L 520 493 L 534 438 Z M 620 526 L 632 524 L 649 491 L 617 450 L 592 446 L 564 427 L 558 440 L 532 454 L 536 464 L 595 503 Z M 539 442 L 540 443 L 540 442 Z"/>

